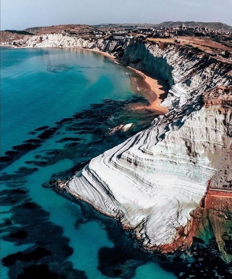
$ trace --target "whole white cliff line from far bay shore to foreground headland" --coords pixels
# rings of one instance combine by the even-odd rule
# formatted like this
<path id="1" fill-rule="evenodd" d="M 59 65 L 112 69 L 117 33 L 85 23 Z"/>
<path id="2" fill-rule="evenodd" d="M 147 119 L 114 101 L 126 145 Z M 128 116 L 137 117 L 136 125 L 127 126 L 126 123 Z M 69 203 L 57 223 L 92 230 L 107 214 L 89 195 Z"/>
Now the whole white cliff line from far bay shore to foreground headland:
<path id="1" fill-rule="evenodd" d="M 92 159 L 60 188 L 117 218 L 147 249 L 190 245 L 208 188 L 231 191 L 232 64 L 184 47 L 130 39 L 46 34 L 24 46 L 95 48 L 167 80 L 171 89 L 162 105 L 169 112 Z"/>

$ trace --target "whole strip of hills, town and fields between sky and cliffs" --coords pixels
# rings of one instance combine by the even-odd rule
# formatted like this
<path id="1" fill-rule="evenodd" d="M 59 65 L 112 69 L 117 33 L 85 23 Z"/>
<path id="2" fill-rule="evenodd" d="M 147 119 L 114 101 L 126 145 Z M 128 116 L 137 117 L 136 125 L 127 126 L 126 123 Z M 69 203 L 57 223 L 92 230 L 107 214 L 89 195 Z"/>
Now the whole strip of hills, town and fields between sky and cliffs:
<path id="1" fill-rule="evenodd" d="M 23 31 L 1 31 L 1 45 L 23 46 L 33 35 L 63 34 L 75 39 L 85 38 L 130 40 L 177 44 L 204 51 L 219 59 L 232 61 L 232 27 L 220 23 L 175 22 L 164 24 L 65 24 L 27 28 Z M 180 23 L 180 22 L 177 22 Z M 192 26 L 187 25 L 192 24 Z M 220 28 L 219 28 L 220 26 Z"/>

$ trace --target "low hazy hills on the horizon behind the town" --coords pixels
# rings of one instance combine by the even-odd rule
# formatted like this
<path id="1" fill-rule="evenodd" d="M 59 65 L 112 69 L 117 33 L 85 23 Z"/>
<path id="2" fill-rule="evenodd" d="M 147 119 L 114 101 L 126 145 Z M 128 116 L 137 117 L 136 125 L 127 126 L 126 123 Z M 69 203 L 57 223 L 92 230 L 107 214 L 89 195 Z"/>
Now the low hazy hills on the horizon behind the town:
<path id="1" fill-rule="evenodd" d="M 180 26 L 181 24 L 185 24 L 186 26 L 193 26 L 193 27 L 206 27 L 210 29 L 225 29 L 228 31 L 232 31 L 232 27 L 228 24 L 221 23 L 221 22 L 201 22 L 201 21 L 164 21 L 159 24 L 152 24 L 152 23 L 115 23 L 115 24 L 107 24 L 102 23 L 98 25 L 93 25 L 94 27 L 113 27 L 113 26 L 154 26 L 154 27 L 174 27 Z"/>

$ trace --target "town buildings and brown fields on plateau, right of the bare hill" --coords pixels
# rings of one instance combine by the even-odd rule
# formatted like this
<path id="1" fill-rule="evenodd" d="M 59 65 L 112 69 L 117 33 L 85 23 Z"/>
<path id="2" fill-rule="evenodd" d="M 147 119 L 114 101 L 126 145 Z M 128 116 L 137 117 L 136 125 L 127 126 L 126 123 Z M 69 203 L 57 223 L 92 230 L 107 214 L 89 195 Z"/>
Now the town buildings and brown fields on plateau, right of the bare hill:
<path id="1" fill-rule="evenodd" d="M 103 26 L 94 29 L 89 33 L 89 36 L 116 40 L 134 38 L 142 41 L 177 43 L 186 47 L 213 52 L 213 55 L 219 55 L 223 59 L 232 59 L 230 49 L 232 47 L 232 31 L 224 29 L 192 27 L 185 26 L 185 24 L 175 27 Z M 200 44 L 199 40 L 202 40 Z M 216 44 L 220 42 L 221 44 Z"/>

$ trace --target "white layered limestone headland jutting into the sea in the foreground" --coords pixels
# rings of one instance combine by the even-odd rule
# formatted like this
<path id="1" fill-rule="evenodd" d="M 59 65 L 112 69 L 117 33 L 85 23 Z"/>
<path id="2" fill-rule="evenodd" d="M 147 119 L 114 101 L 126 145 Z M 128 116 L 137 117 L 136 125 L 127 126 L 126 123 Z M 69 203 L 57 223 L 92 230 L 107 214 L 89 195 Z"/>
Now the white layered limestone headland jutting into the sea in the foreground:
<path id="1" fill-rule="evenodd" d="M 214 173 L 209 154 L 223 146 L 224 119 L 213 107 L 191 113 L 184 123 L 164 126 L 160 119 L 92 159 L 65 190 L 117 217 L 143 246 L 169 244 L 206 192 Z"/>

